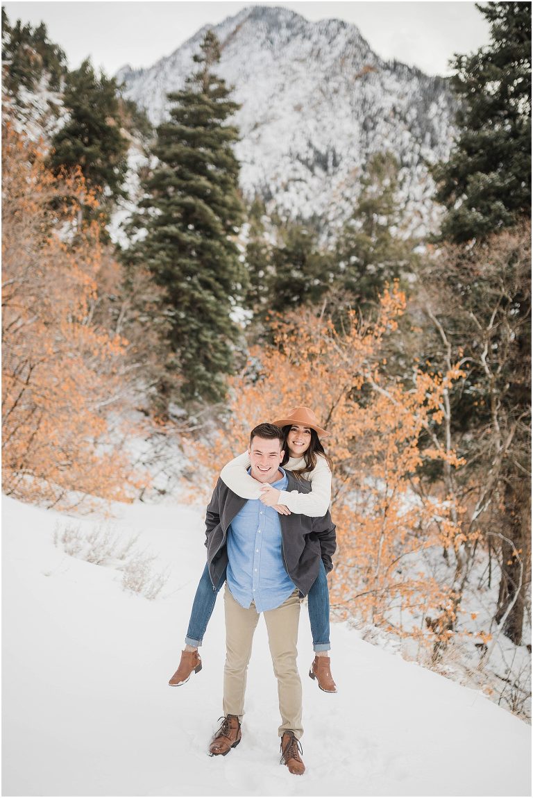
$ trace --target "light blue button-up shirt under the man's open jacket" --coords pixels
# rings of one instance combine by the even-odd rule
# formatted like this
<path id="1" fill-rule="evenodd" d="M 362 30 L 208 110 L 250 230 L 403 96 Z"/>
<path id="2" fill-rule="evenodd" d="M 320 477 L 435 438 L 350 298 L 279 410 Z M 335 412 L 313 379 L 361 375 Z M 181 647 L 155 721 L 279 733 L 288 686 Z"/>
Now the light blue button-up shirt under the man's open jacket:
<path id="1" fill-rule="evenodd" d="M 286 489 L 287 476 L 272 484 Z M 245 609 L 255 602 L 258 612 L 274 610 L 294 591 L 282 555 L 279 514 L 259 499 L 249 499 L 227 530 L 227 587 Z"/>

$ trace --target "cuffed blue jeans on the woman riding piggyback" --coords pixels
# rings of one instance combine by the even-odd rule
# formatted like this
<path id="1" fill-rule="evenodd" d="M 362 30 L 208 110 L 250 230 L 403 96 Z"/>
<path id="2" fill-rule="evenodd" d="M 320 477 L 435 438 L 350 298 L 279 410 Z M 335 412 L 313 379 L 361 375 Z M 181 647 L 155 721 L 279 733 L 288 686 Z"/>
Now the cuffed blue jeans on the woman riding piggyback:
<path id="1" fill-rule="evenodd" d="M 203 635 L 207 629 L 209 618 L 215 608 L 215 601 L 219 590 L 226 581 L 226 571 L 220 577 L 217 587 L 213 587 L 207 563 L 196 588 L 195 599 L 192 602 L 191 619 L 187 630 L 185 642 L 188 646 L 201 646 Z M 307 609 L 313 635 L 313 648 L 315 651 L 330 650 L 330 591 L 326 569 L 322 559 L 318 570 L 318 577 L 311 586 L 307 596 Z"/>

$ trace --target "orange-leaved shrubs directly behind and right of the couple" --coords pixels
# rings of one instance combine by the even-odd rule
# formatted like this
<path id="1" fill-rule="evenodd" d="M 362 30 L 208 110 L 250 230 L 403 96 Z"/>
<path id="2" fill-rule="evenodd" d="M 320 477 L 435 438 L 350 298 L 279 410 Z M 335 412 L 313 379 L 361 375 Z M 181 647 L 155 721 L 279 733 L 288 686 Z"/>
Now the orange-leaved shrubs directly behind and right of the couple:
<path id="1" fill-rule="evenodd" d="M 256 424 L 293 405 L 313 408 L 330 433 L 322 442 L 334 465 L 332 606 L 431 645 L 448 631 L 429 629 L 424 618 L 443 618 L 452 606 L 452 586 L 432 555 L 441 559 L 464 533 L 460 508 L 449 497 L 424 496 L 417 476 L 426 460 L 452 467 L 459 460 L 420 441 L 425 429 L 439 425 L 444 388 L 460 370 L 426 373 L 413 362 L 409 381 L 387 371 L 382 344 L 404 310 L 405 296 L 395 285 L 385 290 L 373 321 L 351 313 L 342 332 L 312 310 L 274 322 L 274 345 L 255 347 L 247 368 L 230 381 L 223 433 L 194 446 L 209 490 L 220 466 L 247 448 Z"/>

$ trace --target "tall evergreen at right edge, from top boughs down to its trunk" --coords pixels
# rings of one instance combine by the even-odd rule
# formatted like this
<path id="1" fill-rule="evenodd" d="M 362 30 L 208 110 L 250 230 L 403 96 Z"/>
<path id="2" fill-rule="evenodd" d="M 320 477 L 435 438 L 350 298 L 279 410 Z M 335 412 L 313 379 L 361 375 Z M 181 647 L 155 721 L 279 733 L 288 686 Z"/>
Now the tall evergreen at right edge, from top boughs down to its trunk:
<path id="1" fill-rule="evenodd" d="M 504 539 L 495 621 L 503 622 L 504 634 L 519 643 L 528 590 L 524 539 L 529 538 L 527 497 L 531 495 L 531 280 L 527 267 L 512 288 L 508 282 L 515 263 L 523 263 L 524 250 L 528 264 L 531 258 L 531 239 L 524 245 L 529 235 L 521 232 L 531 215 L 531 3 L 489 2 L 477 7 L 491 23 L 492 41 L 471 56 L 456 57 L 452 85 L 463 101 L 460 134 L 449 163 L 440 164 L 435 176 L 437 199 L 448 208 L 442 238 L 459 245 L 476 239 L 473 247 L 459 247 L 457 256 L 472 261 L 475 268 L 453 285 L 460 304 L 454 320 L 465 315 L 476 322 L 468 337 L 472 361 L 483 353 L 478 377 L 481 399 L 472 413 L 463 413 L 462 423 L 471 435 L 480 437 L 483 408 L 492 408 L 496 433 L 506 429 L 503 415 L 511 439 L 515 437 L 515 451 L 503 458 L 498 471 Z M 507 231 L 507 227 L 514 229 Z M 499 235 L 489 237 L 493 233 Z M 511 250 L 508 260 L 496 258 L 492 268 L 493 253 L 505 249 L 507 233 L 510 239 L 518 237 L 516 249 L 521 255 Z M 505 312 L 508 320 L 500 321 L 499 314 Z M 487 340 L 476 347 L 480 334 Z M 503 389 L 494 400 L 499 380 Z M 488 480 L 493 472 L 491 466 Z M 520 556 L 526 563 L 523 580 L 517 577 Z"/>

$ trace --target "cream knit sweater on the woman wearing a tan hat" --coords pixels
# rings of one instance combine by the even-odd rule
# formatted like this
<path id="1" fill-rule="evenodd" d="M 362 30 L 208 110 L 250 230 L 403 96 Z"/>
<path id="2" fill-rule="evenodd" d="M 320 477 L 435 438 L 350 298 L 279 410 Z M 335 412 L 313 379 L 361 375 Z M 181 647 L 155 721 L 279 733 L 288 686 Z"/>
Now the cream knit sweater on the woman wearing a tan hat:
<path id="1" fill-rule="evenodd" d="M 306 461 L 303 457 L 290 457 L 283 468 L 294 471 L 298 468 L 305 468 L 305 465 Z M 248 452 L 244 452 L 223 467 L 220 478 L 237 496 L 241 496 L 243 499 L 259 499 L 261 496 L 260 484 L 247 473 L 247 468 L 250 468 L 250 457 Z M 331 500 L 331 472 L 324 457 L 318 455 L 313 471 L 302 476 L 310 481 L 312 491 L 310 493 L 280 491 L 279 504 L 285 504 L 290 512 L 300 513 L 302 516 L 311 518 L 325 516 Z"/>

